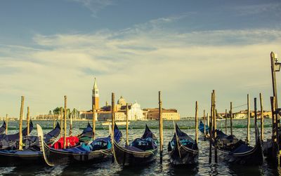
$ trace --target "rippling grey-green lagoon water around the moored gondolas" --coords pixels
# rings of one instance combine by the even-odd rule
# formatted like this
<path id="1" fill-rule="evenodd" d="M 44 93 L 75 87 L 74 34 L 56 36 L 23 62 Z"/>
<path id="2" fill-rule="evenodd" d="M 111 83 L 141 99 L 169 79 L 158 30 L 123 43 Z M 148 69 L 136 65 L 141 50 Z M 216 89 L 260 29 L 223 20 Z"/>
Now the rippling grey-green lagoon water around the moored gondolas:
<path id="1" fill-rule="evenodd" d="M 34 121 L 35 124 L 39 123 L 44 128 L 44 133 L 51 130 L 53 122 L 51 121 Z M 130 123 L 129 140 L 136 137 L 141 137 L 145 129 L 145 123 L 152 129 L 152 132 L 159 137 L 158 121 L 132 121 Z M 185 120 L 177 121 L 178 126 L 183 128 L 185 133 L 190 137 L 195 137 L 194 121 Z M 254 123 L 251 120 L 251 123 Z M 265 125 L 270 126 L 271 119 L 265 120 Z M 87 121 L 74 121 L 73 134 L 81 133 L 81 129 L 86 127 Z M 224 127 L 225 121 L 218 121 L 218 128 Z M 9 122 L 9 134 L 17 133 L 18 123 Z M 234 135 L 240 139 L 245 139 L 247 135 L 247 120 L 233 121 Z M 20 167 L 0 167 L 1 175 L 280 175 L 281 170 L 274 168 L 270 163 L 264 161 L 261 166 L 245 166 L 245 165 L 228 165 L 228 163 L 218 162 L 209 164 L 209 143 L 207 141 L 199 140 L 198 146 L 200 149 L 199 164 L 194 168 L 174 168 L 169 163 L 169 156 L 166 154 L 166 145 L 174 133 L 172 121 L 164 121 L 164 158 L 162 165 L 159 163 L 159 158 L 154 163 L 145 167 L 138 168 L 123 168 L 117 163 L 107 161 L 95 165 L 58 165 L 55 167 L 48 167 L 46 165 L 29 165 Z M 100 122 L 97 124 L 96 130 L 97 137 L 104 137 L 108 135 L 108 128 L 101 126 Z M 121 126 L 123 137 L 125 138 L 126 132 L 124 126 Z M 68 131 L 68 130 L 67 130 Z M 224 131 L 224 128 L 223 128 Z M 228 129 L 228 132 L 230 130 Z M 265 137 L 269 138 L 271 135 L 271 128 L 265 128 Z M 37 135 L 37 130 L 34 129 L 31 135 Z M 124 143 L 124 140 L 122 141 Z M 251 128 L 251 145 L 254 145 L 254 128 Z M 219 160 L 218 160 L 219 161 Z"/>

